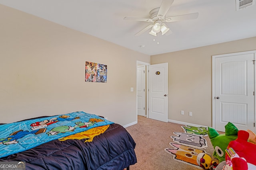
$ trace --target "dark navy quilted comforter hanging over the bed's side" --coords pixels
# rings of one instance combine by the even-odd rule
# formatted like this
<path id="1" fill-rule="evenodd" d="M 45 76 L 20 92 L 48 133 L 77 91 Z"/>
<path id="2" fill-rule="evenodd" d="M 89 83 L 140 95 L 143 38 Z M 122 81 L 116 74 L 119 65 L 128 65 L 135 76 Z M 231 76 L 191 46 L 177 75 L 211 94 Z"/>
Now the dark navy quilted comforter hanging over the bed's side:
<path id="1" fill-rule="evenodd" d="M 25 161 L 26 170 L 123 170 L 137 162 L 136 143 L 121 125 L 85 140 L 54 140 L 0 161 Z"/>

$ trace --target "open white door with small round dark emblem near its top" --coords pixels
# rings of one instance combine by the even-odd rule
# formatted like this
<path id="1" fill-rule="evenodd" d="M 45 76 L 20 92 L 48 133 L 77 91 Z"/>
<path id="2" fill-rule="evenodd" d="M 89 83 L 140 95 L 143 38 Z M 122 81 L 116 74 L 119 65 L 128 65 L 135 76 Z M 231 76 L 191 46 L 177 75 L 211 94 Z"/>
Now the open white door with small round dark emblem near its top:
<path id="1" fill-rule="evenodd" d="M 168 122 L 168 63 L 149 66 L 148 117 Z"/>

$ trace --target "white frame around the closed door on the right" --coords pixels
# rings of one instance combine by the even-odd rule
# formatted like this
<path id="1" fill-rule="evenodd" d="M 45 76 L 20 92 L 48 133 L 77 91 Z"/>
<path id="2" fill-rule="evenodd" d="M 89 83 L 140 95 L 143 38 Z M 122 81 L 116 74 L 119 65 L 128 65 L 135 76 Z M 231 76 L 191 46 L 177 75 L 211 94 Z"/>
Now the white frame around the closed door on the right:
<path id="1" fill-rule="evenodd" d="M 256 50 L 212 56 L 212 128 L 216 129 L 216 120 L 215 120 L 216 114 L 215 114 L 215 99 L 214 99 L 214 97 L 215 97 L 215 59 L 218 57 L 227 57 L 227 56 L 232 56 L 232 55 L 234 56 L 234 55 L 243 55 L 243 54 L 252 54 L 252 53 L 254 53 L 254 59 L 256 59 Z M 255 92 L 255 86 L 256 86 L 256 69 L 254 66 L 254 92 Z M 256 122 L 256 113 L 255 113 L 256 101 L 255 101 L 255 99 L 256 98 L 254 95 L 254 122 Z M 254 129 L 255 129 L 255 127 L 254 127 Z"/>

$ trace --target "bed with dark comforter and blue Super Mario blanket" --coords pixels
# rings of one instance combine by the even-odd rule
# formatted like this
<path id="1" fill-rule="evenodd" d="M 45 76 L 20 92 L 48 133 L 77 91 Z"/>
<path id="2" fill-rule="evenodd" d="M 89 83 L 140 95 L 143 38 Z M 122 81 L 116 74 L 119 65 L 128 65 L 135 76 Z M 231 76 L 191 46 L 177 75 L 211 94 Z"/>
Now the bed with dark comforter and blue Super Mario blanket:
<path id="1" fill-rule="evenodd" d="M 92 120 L 91 117 L 82 119 L 82 115 L 84 114 L 84 112 L 73 113 L 79 113 L 79 116 L 70 116 L 68 114 L 68 119 L 70 119 L 69 121 L 66 121 L 67 117 L 65 117 L 64 119 L 59 119 L 54 123 L 49 123 L 48 121 L 47 127 L 45 127 L 46 125 L 42 126 L 41 124 L 41 127 L 39 128 L 46 129 L 44 132 L 36 135 L 35 133 L 28 134 L 24 137 L 21 137 L 20 139 L 11 139 L 12 136 L 20 133 L 21 130 L 19 130 L 19 132 L 17 133 L 17 129 L 15 129 L 16 127 L 20 126 L 20 123 L 22 125 L 20 127 L 23 127 L 23 123 L 29 121 L 28 124 L 30 124 L 31 126 L 29 130 L 24 128 L 24 130 L 22 131 L 35 131 L 34 129 L 32 129 L 34 127 L 32 127 L 33 123 L 31 122 L 34 122 L 36 124 L 38 122 L 46 122 L 46 120 L 50 119 L 56 120 L 56 117 L 60 117 L 60 115 L 53 117 L 37 117 L 21 122 L 15 122 L 18 123 L 18 126 L 16 124 L 11 124 L 12 128 L 8 128 L 9 130 L 12 129 L 12 133 L 10 133 L 9 130 L 8 132 L 5 132 L 5 130 L 0 129 L 0 151 L 4 151 L 4 154 L 8 152 L 7 156 L 4 154 L 0 155 L 0 161 L 5 161 L 6 163 L 10 161 L 25 162 L 26 170 L 123 170 L 124 168 L 129 169 L 130 165 L 137 162 L 136 154 L 134 152 L 136 143 L 124 127 L 119 124 L 107 121 L 106 119 L 98 117 L 96 115 L 89 114 L 91 117 L 94 117 L 94 122 L 92 122 L 90 121 Z M 95 119 L 101 119 L 102 121 L 95 122 Z M 86 123 L 83 123 L 85 122 L 85 120 L 87 120 Z M 71 124 L 69 125 L 69 123 L 76 123 L 76 125 L 72 126 Z M 81 123 L 82 125 L 80 125 Z M 107 125 L 104 125 L 104 123 L 106 123 Z M 77 127 L 78 124 L 79 127 Z M 6 125 L 8 124 L 2 124 L 0 125 L 0 127 Z M 67 134 L 56 134 L 56 132 L 52 132 L 52 129 L 55 128 L 52 128 L 53 125 L 62 125 L 63 127 L 71 127 L 71 129 L 72 127 L 75 128 L 70 131 L 68 130 Z M 80 140 L 59 140 L 60 138 L 63 139 L 65 137 L 70 137 L 70 135 L 77 135 L 85 131 L 93 130 L 97 127 L 100 128 L 103 125 L 108 126 L 107 129 L 100 135 L 95 135 L 91 142 L 86 142 L 88 138 Z M 18 129 L 20 129 L 20 127 Z M 65 129 L 65 131 L 66 130 L 67 129 Z M 38 132 L 39 130 L 36 129 L 36 131 Z M 12 136 L 6 137 L 6 135 L 2 136 L 3 134 L 9 134 Z M 45 140 L 46 142 L 40 144 L 41 141 L 38 141 L 38 139 L 44 139 L 40 136 L 42 134 L 48 134 L 46 136 L 53 134 L 50 136 L 54 136 L 54 138 L 50 139 L 50 141 Z M 36 145 L 38 146 L 33 146 L 33 142 L 31 144 L 32 146 L 30 146 L 30 143 L 24 142 L 31 142 L 31 138 L 34 136 L 37 137 L 36 142 L 34 143 L 36 143 Z M 22 141 L 22 139 L 25 140 Z M 22 145 L 21 151 L 16 151 L 16 153 L 15 151 L 13 151 L 14 149 L 11 149 L 10 147 L 16 145 L 17 143 L 19 143 L 19 145 L 22 145 L 24 143 L 24 145 Z M 24 147 L 26 146 L 28 146 L 28 149 L 24 149 Z"/>

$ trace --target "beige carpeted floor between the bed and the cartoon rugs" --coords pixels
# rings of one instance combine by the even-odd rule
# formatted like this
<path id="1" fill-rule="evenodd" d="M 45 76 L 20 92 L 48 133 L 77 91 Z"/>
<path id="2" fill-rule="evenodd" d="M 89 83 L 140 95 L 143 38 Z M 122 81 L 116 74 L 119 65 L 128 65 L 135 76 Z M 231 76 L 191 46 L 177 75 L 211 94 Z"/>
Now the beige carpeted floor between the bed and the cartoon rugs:
<path id="1" fill-rule="evenodd" d="M 138 116 L 138 123 L 126 128 L 136 142 L 137 163 L 130 166 L 130 170 L 199 170 L 174 160 L 172 154 L 164 150 L 171 148 L 169 143 L 173 142 L 170 137 L 174 136 L 173 132 L 184 132 L 181 126 Z M 210 139 L 208 136 L 204 139 L 208 147 L 203 150 L 212 155 L 214 149 Z M 215 158 L 213 160 L 218 162 Z"/>

